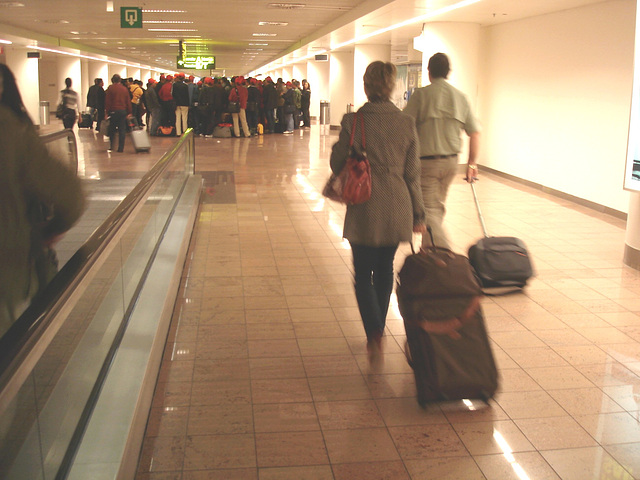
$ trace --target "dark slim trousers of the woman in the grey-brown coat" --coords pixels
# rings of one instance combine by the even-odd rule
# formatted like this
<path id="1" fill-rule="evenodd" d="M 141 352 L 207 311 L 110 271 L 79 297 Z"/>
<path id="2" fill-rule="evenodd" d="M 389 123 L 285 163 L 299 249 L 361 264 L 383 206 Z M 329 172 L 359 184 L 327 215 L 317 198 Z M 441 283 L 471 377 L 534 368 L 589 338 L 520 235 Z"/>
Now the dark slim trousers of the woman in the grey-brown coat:
<path id="1" fill-rule="evenodd" d="M 393 292 L 393 258 L 397 245 L 367 247 L 351 244 L 358 309 L 367 338 L 384 331 Z"/>

